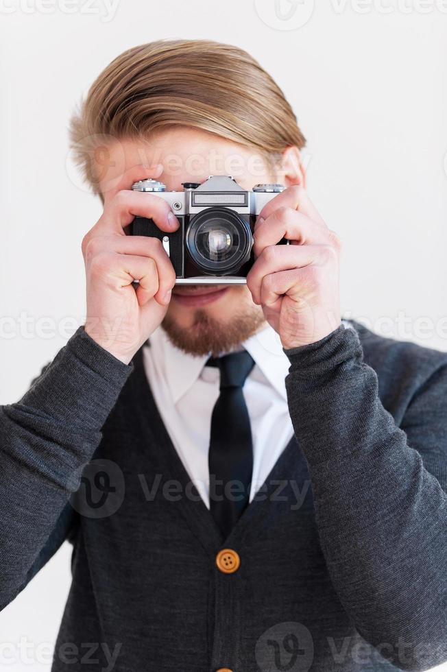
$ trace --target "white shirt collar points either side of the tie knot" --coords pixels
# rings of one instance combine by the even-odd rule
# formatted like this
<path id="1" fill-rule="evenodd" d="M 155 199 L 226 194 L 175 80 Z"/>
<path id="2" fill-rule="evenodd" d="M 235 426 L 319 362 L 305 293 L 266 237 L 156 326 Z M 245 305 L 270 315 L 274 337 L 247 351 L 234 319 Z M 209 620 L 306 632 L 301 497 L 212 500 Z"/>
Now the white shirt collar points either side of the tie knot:
<path id="1" fill-rule="evenodd" d="M 189 355 L 177 348 L 160 326 L 149 339 L 154 361 L 158 362 L 169 387 L 173 403 L 178 403 L 200 377 L 209 355 Z M 242 344 L 276 392 L 287 400 L 285 377 L 290 362 L 282 350 L 280 338 L 271 326 L 254 334 Z"/>

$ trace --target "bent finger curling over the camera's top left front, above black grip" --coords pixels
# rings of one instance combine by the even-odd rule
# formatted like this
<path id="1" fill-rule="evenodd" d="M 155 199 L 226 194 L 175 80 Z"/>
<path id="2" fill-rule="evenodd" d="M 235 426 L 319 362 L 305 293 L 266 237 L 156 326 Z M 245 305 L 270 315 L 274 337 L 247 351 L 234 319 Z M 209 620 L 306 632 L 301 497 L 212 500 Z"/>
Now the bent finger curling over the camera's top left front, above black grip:
<path id="1" fill-rule="evenodd" d="M 169 204 L 159 196 L 142 191 L 119 191 L 106 204 L 96 231 L 102 235 L 104 232 L 123 235 L 125 226 L 135 217 L 153 219 L 156 226 L 166 232 L 176 231 L 180 225 Z"/>

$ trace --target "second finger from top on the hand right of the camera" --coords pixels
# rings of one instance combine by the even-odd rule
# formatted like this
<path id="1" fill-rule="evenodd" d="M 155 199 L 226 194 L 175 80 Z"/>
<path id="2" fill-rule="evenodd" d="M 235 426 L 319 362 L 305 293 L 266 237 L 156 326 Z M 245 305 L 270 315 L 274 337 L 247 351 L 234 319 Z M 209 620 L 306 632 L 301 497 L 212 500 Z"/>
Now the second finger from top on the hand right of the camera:
<path id="1" fill-rule="evenodd" d="M 276 245 L 286 238 L 300 245 L 330 243 L 329 229 L 293 208 L 281 207 L 267 219 L 256 221 L 254 227 L 254 256 L 259 256 L 264 248 Z"/>

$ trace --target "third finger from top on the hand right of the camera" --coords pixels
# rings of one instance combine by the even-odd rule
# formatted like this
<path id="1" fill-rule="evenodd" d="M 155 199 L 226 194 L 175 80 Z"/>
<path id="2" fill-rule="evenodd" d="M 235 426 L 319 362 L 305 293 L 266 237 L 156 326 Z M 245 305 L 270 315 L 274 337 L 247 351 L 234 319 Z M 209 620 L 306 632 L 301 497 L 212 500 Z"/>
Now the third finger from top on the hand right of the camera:
<path id="1" fill-rule="evenodd" d="M 335 254 L 329 245 L 270 245 L 265 248 L 247 274 L 247 287 L 254 303 L 261 304 L 263 278 L 284 270 L 322 265 Z"/>

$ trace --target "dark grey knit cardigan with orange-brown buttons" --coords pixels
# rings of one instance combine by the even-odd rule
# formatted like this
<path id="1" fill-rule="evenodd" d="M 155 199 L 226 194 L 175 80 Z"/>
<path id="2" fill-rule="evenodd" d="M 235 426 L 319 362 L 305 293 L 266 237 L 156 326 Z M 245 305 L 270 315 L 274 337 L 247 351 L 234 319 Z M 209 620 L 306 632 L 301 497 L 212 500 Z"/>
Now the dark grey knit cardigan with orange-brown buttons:
<path id="1" fill-rule="evenodd" d="M 227 539 L 141 352 L 123 365 L 80 328 L 0 409 L 0 608 L 73 543 L 55 672 L 447 660 L 447 355 L 357 324 L 285 352 L 295 437 Z"/>

